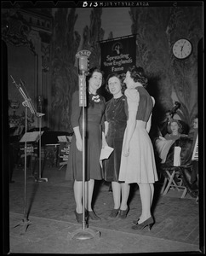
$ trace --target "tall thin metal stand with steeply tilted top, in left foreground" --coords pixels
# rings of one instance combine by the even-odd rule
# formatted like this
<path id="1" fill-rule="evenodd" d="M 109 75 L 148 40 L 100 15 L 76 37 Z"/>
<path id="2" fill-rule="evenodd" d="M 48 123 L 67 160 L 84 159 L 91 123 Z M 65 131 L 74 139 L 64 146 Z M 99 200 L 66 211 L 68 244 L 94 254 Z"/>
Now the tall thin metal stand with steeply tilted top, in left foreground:
<path id="1" fill-rule="evenodd" d="M 24 86 L 23 82 L 20 80 L 20 84 L 16 84 L 14 78 L 12 76 L 10 76 L 11 79 L 13 80 L 13 84 L 15 84 L 16 88 L 20 91 L 21 96 L 23 96 L 24 98 L 24 102 L 22 102 L 22 105 L 25 107 L 25 135 L 27 137 L 27 112 L 28 112 L 28 108 L 30 109 L 31 113 L 36 114 L 37 117 L 42 117 L 44 115 L 44 113 L 37 113 L 37 111 L 35 110 L 32 102 L 31 102 L 31 98 L 28 96 L 28 93 L 26 92 L 26 89 L 23 90 L 21 85 Z M 41 130 L 40 130 L 41 131 Z M 41 133 L 40 133 L 40 137 L 41 137 Z M 40 140 L 41 142 L 41 140 Z M 41 145 L 40 145 L 41 147 Z M 31 224 L 31 222 L 28 219 L 27 216 L 27 211 L 26 211 L 26 158 L 27 158 L 27 139 L 25 140 L 25 186 L 24 186 L 24 218 L 21 220 L 21 222 L 19 224 L 17 224 L 15 227 L 19 226 L 21 227 L 20 229 L 20 234 L 23 235 L 26 230 L 27 227 Z M 41 160 L 40 156 L 39 156 L 39 160 Z M 40 172 L 41 170 L 39 170 Z M 41 174 L 40 174 L 41 175 Z"/>

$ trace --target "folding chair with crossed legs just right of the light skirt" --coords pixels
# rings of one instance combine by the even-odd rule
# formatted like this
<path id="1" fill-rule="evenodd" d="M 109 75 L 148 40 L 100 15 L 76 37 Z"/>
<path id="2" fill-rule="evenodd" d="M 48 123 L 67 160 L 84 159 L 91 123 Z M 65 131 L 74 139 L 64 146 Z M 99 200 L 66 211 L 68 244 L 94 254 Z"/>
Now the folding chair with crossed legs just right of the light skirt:
<path id="1" fill-rule="evenodd" d="M 172 167 L 161 167 L 164 175 L 163 187 L 161 189 L 161 194 L 166 195 L 169 189 L 175 188 L 178 191 L 183 189 L 183 193 L 180 198 L 184 198 L 186 196 L 187 188 L 184 186 L 182 178 L 180 176 L 180 166 L 172 166 Z"/>

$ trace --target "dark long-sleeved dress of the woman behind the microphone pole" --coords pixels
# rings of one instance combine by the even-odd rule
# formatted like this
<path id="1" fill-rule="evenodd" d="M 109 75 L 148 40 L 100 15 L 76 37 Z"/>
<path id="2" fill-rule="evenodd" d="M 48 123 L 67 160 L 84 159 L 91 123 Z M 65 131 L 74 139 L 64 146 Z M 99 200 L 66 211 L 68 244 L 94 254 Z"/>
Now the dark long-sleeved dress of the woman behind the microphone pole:
<path id="1" fill-rule="evenodd" d="M 85 109 L 85 181 L 89 179 L 102 179 L 103 171 L 100 167 L 100 150 L 102 148 L 102 127 L 105 112 L 105 98 L 100 96 L 100 102 L 91 100 L 90 95 Z M 92 101 L 92 103 L 89 103 Z M 72 96 L 72 127 L 79 126 L 83 131 L 82 107 L 79 107 L 79 94 L 75 91 Z M 83 152 L 76 146 L 76 137 L 73 135 L 70 154 L 66 167 L 66 180 L 83 180 Z"/>

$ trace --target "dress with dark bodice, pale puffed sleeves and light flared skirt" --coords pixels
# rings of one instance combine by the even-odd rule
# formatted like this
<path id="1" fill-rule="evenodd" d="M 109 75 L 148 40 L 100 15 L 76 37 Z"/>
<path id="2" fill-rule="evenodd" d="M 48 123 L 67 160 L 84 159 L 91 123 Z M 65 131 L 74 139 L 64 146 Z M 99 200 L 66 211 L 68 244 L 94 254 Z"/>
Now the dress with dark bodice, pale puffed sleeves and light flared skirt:
<path id="1" fill-rule="evenodd" d="M 128 110 L 135 111 L 136 125 L 129 143 L 129 156 L 122 154 L 119 181 L 125 183 L 155 183 L 158 180 L 151 138 L 146 131 L 146 122 L 152 113 L 152 97 L 142 86 L 125 90 Z M 127 130 L 127 128 L 126 128 Z M 125 140 L 123 137 L 123 143 Z"/>

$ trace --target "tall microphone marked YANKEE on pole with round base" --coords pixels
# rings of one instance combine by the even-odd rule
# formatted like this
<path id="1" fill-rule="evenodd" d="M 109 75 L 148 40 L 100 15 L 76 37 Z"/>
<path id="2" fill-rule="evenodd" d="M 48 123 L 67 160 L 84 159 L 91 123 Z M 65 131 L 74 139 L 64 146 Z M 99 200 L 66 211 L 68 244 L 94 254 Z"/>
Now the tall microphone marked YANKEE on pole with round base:
<path id="1" fill-rule="evenodd" d="M 83 224 L 81 230 L 75 230 L 72 234 L 68 233 L 68 237 L 78 240 L 87 240 L 94 237 L 100 237 L 100 232 L 97 230 L 91 230 L 86 227 L 85 221 L 85 107 L 87 107 L 86 101 L 86 73 L 88 71 L 88 58 L 91 52 L 89 50 L 81 50 L 77 53 L 76 57 L 78 59 L 79 66 L 79 106 L 83 108 Z"/>

